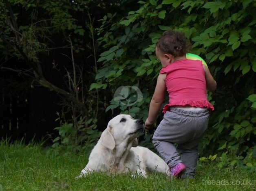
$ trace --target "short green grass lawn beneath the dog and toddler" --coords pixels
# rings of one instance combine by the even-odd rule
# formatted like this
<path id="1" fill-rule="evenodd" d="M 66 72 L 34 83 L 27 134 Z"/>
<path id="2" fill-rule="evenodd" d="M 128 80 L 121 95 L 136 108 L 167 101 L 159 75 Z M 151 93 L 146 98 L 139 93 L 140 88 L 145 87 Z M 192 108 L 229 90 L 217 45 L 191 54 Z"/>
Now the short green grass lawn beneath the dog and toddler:
<path id="1" fill-rule="evenodd" d="M 148 178 L 130 175 L 91 174 L 76 180 L 88 161 L 88 153 L 66 152 L 55 156 L 49 148 L 0 141 L 0 191 L 5 190 L 255 190 L 255 171 L 218 169 L 199 163 L 196 177 L 173 179 L 160 174 Z"/>

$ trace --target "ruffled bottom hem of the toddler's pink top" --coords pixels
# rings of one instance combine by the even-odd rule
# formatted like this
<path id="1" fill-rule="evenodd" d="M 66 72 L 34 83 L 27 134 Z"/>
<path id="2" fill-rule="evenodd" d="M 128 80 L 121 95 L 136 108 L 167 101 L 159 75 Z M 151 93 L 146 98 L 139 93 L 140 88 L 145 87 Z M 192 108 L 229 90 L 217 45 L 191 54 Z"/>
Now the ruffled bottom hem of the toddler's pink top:
<path id="1" fill-rule="evenodd" d="M 208 108 L 211 111 L 214 111 L 214 106 L 208 100 L 202 101 L 194 101 L 194 100 L 180 100 L 177 102 L 172 102 L 170 104 L 166 104 L 163 106 L 163 113 L 170 110 L 171 106 L 192 106 L 192 107 L 201 107 L 201 108 Z"/>

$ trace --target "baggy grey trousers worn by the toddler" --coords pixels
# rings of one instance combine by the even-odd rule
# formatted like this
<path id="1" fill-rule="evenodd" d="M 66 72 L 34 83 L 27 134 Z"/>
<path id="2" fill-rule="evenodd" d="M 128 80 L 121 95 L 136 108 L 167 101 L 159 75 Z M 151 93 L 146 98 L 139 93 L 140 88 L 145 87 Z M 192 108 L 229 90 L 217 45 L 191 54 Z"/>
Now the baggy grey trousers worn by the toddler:
<path id="1" fill-rule="evenodd" d="M 186 111 L 170 107 L 154 132 L 153 144 L 169 167 L 185 164 L 185 177 L 194 177 L 198 143 L 207 129 L 209 111 Z M 173 143 L 178 143 L 177 149 Z"/>

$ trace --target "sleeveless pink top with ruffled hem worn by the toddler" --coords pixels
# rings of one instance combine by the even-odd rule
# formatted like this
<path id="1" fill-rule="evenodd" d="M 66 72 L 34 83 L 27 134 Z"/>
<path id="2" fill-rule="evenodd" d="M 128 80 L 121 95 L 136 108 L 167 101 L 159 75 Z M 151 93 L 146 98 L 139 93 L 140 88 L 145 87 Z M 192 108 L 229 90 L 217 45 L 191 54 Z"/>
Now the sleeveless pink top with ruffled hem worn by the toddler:
<path id="1" fill-rule="evenodd" d="M 169 104 L 163 107 L 163 113 L 170 106 L 193 106 L 214 110 L 206 97 L 205 71 L 202 61 L 183 59 L 163 67 L 159 74 L 166 73 L 166 88 Z"/>

